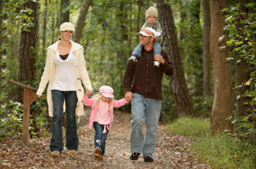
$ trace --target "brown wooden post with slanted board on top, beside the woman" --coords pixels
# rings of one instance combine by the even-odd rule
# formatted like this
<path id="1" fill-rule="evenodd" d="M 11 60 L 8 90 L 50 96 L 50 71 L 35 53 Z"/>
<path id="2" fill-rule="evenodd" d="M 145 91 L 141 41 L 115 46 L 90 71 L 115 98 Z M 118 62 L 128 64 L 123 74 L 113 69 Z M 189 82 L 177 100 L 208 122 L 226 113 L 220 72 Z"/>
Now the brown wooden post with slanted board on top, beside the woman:
<path id="1" fill-rule="evenodd" d="M 21 84 L 17 81 L 9 80 L 11 83 L 15 85 L 19 85 L 24 88 L 23 90 L 23 126 L 22 126 L 22 141 L 24 143 L 29 142 L 29 114 L 30 107 L 33 104 L 34 100 L 37 99 L 37 89 L 31 88 L 27 85 Z"/>

